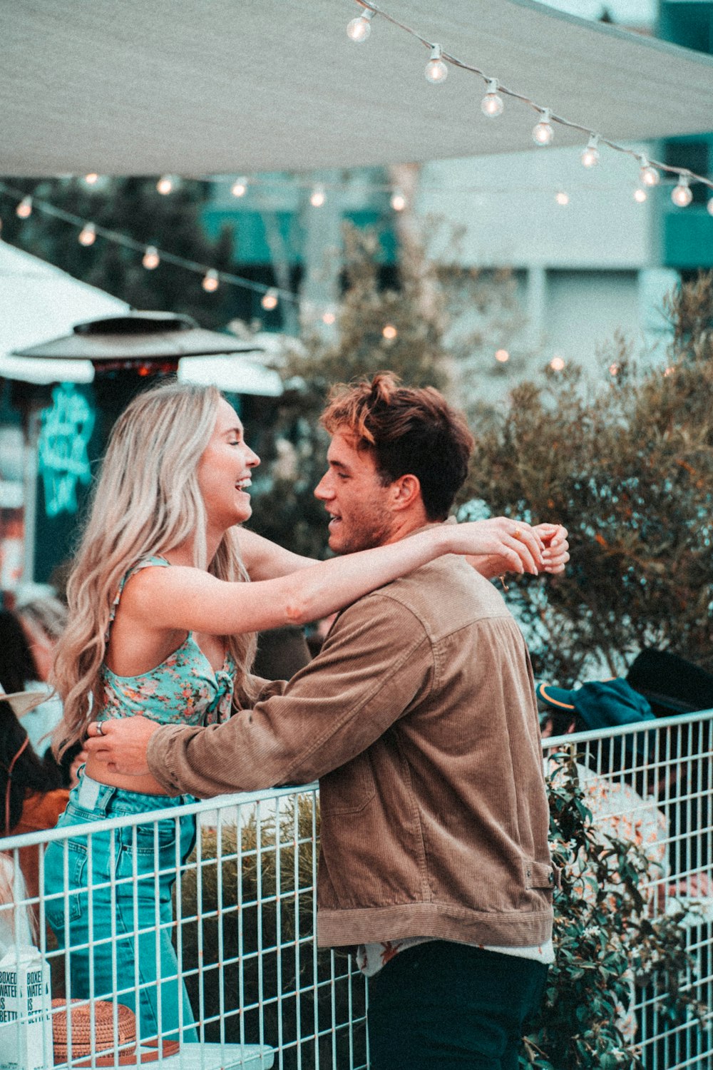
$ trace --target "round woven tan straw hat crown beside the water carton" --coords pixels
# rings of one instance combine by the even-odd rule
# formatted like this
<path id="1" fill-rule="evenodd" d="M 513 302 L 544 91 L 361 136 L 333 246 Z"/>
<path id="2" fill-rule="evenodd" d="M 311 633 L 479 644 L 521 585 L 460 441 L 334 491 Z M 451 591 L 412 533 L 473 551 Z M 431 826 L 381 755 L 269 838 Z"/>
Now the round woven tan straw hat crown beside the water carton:
<path id="1" fill-rule="evenodd" d="M 114 1040 L 113 1004 L 96 999 L 69 1000 L 72 1022 L 72 1061 L 92 1054 L 92 1009 L 94 1010 L 94 1051 L 96 1055 L 111 1055 L 119 1049 L 122 1056 L 133 1060 L 136 1052 L 136 1018 L 134 1011 L 117 1004 L 117 1035 Z M 52 999 L 52 1040 L 55 1061 L 67 1060 L 67 1004 L 66 999 Z"/>

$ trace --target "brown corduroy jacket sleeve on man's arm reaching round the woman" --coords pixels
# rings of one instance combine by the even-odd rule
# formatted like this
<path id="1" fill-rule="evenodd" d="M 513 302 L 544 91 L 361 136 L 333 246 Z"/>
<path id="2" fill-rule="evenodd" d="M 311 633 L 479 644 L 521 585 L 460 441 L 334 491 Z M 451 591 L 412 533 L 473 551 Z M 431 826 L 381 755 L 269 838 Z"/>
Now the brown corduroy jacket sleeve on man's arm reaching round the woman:
<path id="1" fill-rule="evenodd" d="M 377 592 L 342 612 L 283 694 L 222 724 L 161 727 L 149 766 L 169 793 L 202 798 L 308 783 L 366 750 L 430 691 L 433 672 L 421 622 Z"/>

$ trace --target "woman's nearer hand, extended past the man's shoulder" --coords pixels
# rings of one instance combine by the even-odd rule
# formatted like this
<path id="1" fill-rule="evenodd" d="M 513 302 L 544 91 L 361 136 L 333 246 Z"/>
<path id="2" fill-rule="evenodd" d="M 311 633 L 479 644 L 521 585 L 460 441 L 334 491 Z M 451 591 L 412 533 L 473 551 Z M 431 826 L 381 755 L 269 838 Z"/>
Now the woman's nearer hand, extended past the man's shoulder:
<path id="1" fill-rule="evenodd" d="M 522 520 L 493 517 L 449 524 L 446 530 L 452 538 L 451 552 L 466 554 L 469 563 L 490 579 L 502 572 L 538 576 L 545 568 L 545 541 L 537 528 Z"/>

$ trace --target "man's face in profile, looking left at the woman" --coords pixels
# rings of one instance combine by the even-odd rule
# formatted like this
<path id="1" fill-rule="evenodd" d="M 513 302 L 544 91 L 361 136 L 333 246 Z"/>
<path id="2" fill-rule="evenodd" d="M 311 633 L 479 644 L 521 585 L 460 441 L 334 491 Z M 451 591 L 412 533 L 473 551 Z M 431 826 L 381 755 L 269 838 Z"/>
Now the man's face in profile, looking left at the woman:
<path id="1" fill-rule="evenodd" d="M 328 471 L 314 494 L 330 516 L 329 547 L 335 553 L 369 550 L 389 541 L 389 487 L 384 487 L 369 449 L 337 433 L 327 452 Z"/>

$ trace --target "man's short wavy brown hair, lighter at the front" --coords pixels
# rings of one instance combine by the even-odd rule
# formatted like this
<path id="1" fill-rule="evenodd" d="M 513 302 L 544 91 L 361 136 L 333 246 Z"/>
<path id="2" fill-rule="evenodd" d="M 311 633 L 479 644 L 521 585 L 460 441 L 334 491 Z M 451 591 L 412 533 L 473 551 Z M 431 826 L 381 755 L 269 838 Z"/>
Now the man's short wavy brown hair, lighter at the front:
<path id="1" fill-rule="evenodd" d="M 415 475 L 429 520 L 446 519 L 465 482 L 474 440 L 465 417 L 433 386 L 402 386 L 390 371 L 339 383 L 322 424 L 370 450 L 384 486 Z"/>

